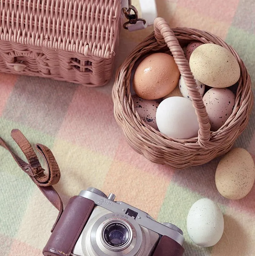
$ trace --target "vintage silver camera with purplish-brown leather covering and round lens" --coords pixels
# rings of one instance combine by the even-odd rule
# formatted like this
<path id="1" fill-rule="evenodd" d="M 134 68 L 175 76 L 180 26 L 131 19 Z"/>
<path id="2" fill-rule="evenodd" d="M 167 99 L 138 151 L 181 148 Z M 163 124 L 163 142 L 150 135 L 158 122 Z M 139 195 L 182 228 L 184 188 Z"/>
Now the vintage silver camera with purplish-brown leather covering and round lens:
<path id="1" fill-rule="evenodd" d="M 95 188 L 69 199 L 44 256 L 182 256 L 182 231 Z"/>

